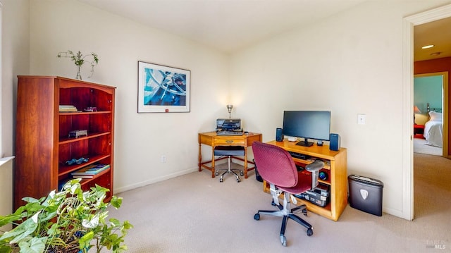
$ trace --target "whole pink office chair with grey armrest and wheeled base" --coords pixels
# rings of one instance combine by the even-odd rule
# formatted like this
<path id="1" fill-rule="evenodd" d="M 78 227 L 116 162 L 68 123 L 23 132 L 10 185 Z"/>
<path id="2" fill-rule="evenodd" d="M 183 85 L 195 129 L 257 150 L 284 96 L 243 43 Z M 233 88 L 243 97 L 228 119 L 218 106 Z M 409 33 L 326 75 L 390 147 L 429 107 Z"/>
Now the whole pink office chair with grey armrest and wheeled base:
<path id="1" fill-rule="evenodd" d="M 259 221 L 260 214 L 283 217 L 282 227 L 280 228 L 280 242 L 283 246 L 287 246 L 285 228 L 289 218 L 307 228 L 308 236 L 313 235 L 313 227 L 295 215 L 295 212 L 302 211 L 307 216 L 307 206 L 302 204 L 291 209 L 290 200 L 295 202 L 296 199 L 291 195 L 299 195 L 302 192 L 314 189 L 318 185 L 319 170 L 323 168 L 324 162 L 316 160 L 307 165 L 305 169 L 311 172 L 311 175 L 306 175 L 297 171 L 295 162 L 285 149 L 271 144 L 254 142 L 252 151 L 261 178 L 270 185 L 271 195 L 273 196 L 271 204 L 279 209 L 277 211 L 259 210 L 254 215 L 254 219 Z M 284 193 L 283 204 L 280 204 L 278 196 L 282 192 Z"/>

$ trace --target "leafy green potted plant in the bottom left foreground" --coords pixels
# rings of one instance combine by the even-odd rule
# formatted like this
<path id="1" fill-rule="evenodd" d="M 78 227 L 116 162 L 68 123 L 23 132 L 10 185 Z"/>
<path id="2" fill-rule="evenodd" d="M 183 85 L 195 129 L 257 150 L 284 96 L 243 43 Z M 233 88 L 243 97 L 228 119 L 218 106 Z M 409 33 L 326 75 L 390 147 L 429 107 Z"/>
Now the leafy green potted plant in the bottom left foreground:
<path id="1" fill-rule="evenodd" d="M 27 204 L 0 216 L 0 227 L 16 226 L 3 234 L 0 231 L 0 252 L 78 253 L 91 248 L 124 252 L 124 237 L 132 225 L 116 218 L 106 220 L 108 206 L 118 209 L 122 198 L 113 196 L 105 203 L 108 189 L 96 185 L 83 192 L 80 180 L 70 180 L 60 192 L 54 190 L 41 199 L 25 197 Z"/>

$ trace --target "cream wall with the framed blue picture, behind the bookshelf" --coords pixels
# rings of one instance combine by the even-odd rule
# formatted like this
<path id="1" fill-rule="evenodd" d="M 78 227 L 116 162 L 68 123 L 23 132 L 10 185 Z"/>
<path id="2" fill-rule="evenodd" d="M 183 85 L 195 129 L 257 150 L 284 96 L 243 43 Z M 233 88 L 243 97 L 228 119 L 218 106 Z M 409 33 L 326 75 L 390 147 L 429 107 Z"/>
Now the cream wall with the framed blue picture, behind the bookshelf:
<path id="1" fill-rule="evenodd" d="M 117 192 L 197 170 L 197 132 L 214 129 L 215 117 L 227 113 L 228 57 L 78 1 L 30 4 L 31 75 L 75 78 L 75 64 L 58 52 L 95 52 L 99 65 L 84 80 L 117 87 Z M 191 70 L 191 112 L 138 114 L 138 61 Z"/>

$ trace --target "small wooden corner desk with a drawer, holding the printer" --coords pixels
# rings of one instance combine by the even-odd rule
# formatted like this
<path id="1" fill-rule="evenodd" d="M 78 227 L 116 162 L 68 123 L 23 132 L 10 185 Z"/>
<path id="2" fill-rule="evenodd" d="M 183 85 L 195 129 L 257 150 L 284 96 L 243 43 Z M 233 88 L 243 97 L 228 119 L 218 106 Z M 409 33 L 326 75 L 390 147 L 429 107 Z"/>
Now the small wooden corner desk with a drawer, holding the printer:
<path id="1" fill-rule="evenodd" d="M 261 142 L 261 133 L 252 133 L 249 135 L 239 135 L 239 136 L 226 136 L 226 135 L 216 135 L 216 132 L 201 132 L 199 133 L 199 171 L 202 168 L 206 168 L 211 171 L 211 178 L 214 178 L 214 163 L 220 159 L 214 158 L 214 147 L 216 146 L 241 146 L 245 148 L 245 158 L 233 156 L 233 159 L 238 159 L 245 162 L 245 178 L 247 178 L 247 171 L 252 171 L 254 167 L 247 168 L 247 163 L 252 163 L 252 161 L 247 161 L 247 147 L 252 146 L 252 142 Z M 211 160 L 202 161 L 202 144 L 211 146 Z M 222 158 L 224 159 L 224 158 Z M 211 166 L 207 166 L 211 163 Z"/>

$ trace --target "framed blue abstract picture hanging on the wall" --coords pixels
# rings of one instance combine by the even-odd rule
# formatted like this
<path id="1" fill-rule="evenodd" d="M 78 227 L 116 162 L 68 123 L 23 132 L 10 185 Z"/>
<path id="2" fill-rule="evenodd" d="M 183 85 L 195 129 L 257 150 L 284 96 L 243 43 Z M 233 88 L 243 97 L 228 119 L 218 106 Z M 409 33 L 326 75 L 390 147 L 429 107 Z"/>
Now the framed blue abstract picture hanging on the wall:
<path id="1" fill-rule="evenodd" d="M 191 71 L 138 61 L 138 113 L 190 112 Z"/>

